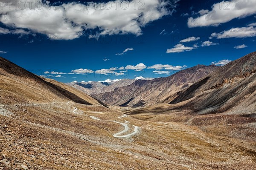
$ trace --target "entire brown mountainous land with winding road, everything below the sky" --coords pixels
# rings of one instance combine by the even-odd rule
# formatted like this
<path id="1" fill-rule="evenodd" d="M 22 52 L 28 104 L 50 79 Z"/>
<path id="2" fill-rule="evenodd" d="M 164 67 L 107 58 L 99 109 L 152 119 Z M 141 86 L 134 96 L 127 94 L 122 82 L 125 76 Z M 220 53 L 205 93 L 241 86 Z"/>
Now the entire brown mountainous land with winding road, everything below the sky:
<path id="1" fill-rule="evenodd" d="M 0 58 L 0 169 L 255 169 L 256 52 L 137 79 L 70 86 Z"/>

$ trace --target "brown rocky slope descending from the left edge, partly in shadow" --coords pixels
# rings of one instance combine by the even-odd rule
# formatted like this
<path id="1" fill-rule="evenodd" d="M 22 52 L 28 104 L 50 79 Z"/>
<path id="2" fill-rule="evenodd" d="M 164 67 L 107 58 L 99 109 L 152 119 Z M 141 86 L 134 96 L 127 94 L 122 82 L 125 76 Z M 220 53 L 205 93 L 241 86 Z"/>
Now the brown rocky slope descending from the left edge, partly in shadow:
<path id="1" fill-rule="evenodd" d="M 0 58 L 0 103 L 29 104 L 74 101 L 80 104 L 100 104 L 65 84 L 41 78 L 16 64 Z"/>

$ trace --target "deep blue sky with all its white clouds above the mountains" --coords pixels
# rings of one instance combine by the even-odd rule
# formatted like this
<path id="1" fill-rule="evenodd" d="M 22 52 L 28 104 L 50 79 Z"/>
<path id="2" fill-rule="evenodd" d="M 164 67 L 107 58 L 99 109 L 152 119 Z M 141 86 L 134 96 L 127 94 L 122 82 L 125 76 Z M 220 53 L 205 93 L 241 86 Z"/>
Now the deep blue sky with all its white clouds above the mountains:
<path id="1" fill-rule="evenodd" d="M 0 56 L 62 82 L 165 77 L 256 51 L 253 0 L 6 2 Z"/>

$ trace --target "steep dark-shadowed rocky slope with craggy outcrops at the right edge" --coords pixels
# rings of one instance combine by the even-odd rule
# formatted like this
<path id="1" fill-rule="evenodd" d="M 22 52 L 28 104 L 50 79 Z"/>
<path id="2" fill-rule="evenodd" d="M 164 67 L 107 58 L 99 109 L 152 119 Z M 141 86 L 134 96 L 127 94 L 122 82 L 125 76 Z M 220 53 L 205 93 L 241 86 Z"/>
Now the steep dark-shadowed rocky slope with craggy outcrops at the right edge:
<path id="1" fill-rule="evenodd" d="M 256 111 L 256 52 L 232 61 L 177 96 L 170 104 L 193 112 Z"/>

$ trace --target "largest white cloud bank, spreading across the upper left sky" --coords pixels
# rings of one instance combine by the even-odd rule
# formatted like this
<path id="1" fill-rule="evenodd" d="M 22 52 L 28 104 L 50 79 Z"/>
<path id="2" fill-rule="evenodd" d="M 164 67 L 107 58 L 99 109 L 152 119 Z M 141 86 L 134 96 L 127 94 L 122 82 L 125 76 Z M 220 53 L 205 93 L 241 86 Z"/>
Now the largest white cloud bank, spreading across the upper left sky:
<path id="1" fill-rule="evenodd" d="M 7 2 L 11 3 L 11 0 Z M 58 6 L 42 0 L 23 2 L 27 3 L 25 9 L 9 9 L 9 5 L 3 4 L 6 1 L 1 1 L 3 9 L 0 10 L 0 21 L 6 26 L 56 36 L 59 40 L 71 40 L 93 29 L 99 30 L 99 35 L 142 35 L 142 28 L 148 23 L 172 14 L 178 0 L 174 3 L 165 0 L 135 1 L 135 9 L 134 2 L 129 0 L 70 2 Z M 143 8 L 140 8 L 141 3 Z M 167 6 L 171 6 L 171 9 Z"/>

